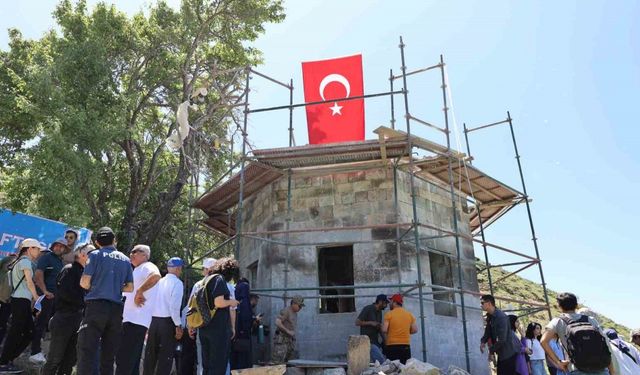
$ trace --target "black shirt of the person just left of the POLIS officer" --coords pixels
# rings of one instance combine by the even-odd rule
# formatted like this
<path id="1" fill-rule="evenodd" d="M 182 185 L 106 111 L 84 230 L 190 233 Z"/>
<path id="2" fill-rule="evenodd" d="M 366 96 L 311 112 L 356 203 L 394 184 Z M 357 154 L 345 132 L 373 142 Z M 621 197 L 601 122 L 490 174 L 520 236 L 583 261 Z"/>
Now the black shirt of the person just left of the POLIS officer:
<path id="1" fill-rule="evenodd" d="M 67 264 L 62 268 L 56 285 L 55 309 L 58 312 L 80 312 L 84 308 L 85 290 L 80 286 L 80 278 L 84 267 L 78 262 Z"/>

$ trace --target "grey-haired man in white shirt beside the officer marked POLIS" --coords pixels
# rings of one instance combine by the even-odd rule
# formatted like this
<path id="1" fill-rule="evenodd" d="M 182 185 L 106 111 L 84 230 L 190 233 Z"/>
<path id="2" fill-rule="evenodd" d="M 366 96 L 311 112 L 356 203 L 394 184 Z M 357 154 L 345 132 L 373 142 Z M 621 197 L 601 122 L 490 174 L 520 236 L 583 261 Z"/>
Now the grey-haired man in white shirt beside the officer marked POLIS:
<path id="1" fill-rule="evenodd" d="M 144 337 L 151 325 L 155 305 L 156 284 L 160 281 L 160 270 L 149 262 L 151 248 L 136 245 L 129 258 L 133 265 L 133 292 L 123 293 L 125 299 L 122 312 L 122 340 L 116 355 L 116 375 L 137 375 L 144 347 Z"/>

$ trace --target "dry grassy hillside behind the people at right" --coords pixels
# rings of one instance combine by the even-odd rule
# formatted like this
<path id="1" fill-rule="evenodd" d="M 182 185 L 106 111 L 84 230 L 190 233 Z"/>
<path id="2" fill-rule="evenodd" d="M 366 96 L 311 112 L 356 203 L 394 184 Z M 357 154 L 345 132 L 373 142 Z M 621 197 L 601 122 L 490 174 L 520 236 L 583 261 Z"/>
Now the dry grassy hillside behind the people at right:
<path id="1" fill-rule="evenodd" d="M 484 268 L 484 263 L 478 262 L 476 269 L 481 269 L 481 268 Z M 508 272 L 502 268 L 491 269 L 492 280 L 500 279 L 507 274 Z M 489 282 L 487 280 L 486 272 L 478 273 L 478 283 L 480 285 L 480 291 L 482 291 L 483 293 L 489 292 Z M 500 282 L 497 285 L 497 287 L 494 285 L 494 288 L 495 288 L 494 294 L 498 297 L 508 297 L 508 298 L 514 298 L 519 300 L 526 300 L 526 301 L 544 302 L 544 293 L 542 291 L 542 285 L 527 279 L 523 279 L 518 275 L 513 275 L 508 279 Z M 549 293 L 549 304 L 551 305 L 551 314 L 552 316 L 557 316 L 558 314 L 560 314 L 560 310 L 556 306 L 556 296 L 558 295 L 558 292 L 549 289 L 549 285 L 547 285 L 547 291 Z M 578 295 L 578 299 L 579 299 L 580 291 L 575 291 L 575 293 Z M 505 308 L 505 309 L 509 307 L 507 305 L 511 305 L 510 306 L 511 308 L 516 308 L 516 309 L 520 307 L 515 303 L 509 304 L 509 303 L 500 302 L 500 301 L 497 301 L 497 303 L 498 303 L 498 307 Z M 584 305 L 580 305 L 580 307 L 588 308 L 588 306 L 584 306 Z M 598 322 L 600 322 L 603 328 L 615 328 L 616 331 L 618 331 L 618 333 L 625 338 L 625 340 L 630 341 L 628 327 L 618 324 L 604 315 L 601 315 L 601 314 L 597 314 L 597 315 L 598 315 L 597 316 Z M 546 311 L 537 312 L 529 316 L 522 317 L 520 319 L 522 319 L 522 323 L 525 323 L 525 325 L 531 321 L 535 321 L 542 324 L 543 327 L 549 321 Z"/>

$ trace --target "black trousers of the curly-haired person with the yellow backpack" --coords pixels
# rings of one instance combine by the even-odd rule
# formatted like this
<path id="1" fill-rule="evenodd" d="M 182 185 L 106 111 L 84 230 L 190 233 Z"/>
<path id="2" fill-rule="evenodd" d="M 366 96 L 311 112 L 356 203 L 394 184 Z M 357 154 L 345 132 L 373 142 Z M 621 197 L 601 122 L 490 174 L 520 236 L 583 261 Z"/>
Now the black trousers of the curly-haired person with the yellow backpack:
<path id="1" fill-rule="evenodd" d="M 198 329 L 202 344 L 202 367 L 204 375 L 224 375 L 229 363 L 231 328 L 229 323 L 216 328 L 213 324 Z"/>

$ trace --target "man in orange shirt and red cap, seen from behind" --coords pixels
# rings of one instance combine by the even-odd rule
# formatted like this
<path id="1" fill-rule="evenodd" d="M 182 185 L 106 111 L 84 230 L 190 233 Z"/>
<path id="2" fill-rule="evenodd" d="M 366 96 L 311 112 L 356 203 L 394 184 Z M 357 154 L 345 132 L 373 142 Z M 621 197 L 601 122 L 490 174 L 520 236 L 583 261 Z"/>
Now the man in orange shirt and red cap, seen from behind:
<path id="1" fill-rule="evenodd" d="M 402 307 L 401 294 L 391 296 L 391 311 L 385 314 L 382 333 L 387 334 L 385 355 L 405 364 L 411 358 L 411 335 L 418 332 L 416 318 Z"/>

